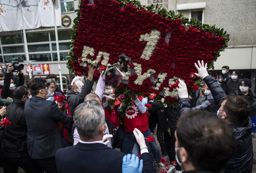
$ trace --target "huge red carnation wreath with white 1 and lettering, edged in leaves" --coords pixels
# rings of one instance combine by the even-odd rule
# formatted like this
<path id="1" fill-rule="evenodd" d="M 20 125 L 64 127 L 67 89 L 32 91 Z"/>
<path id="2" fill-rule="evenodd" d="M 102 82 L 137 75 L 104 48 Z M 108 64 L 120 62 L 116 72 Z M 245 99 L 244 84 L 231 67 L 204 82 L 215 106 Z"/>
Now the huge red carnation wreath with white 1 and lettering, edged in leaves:
<path id="1" fill-rule="evenodd" d="M 213 63 L 229 41 L 224 29 L 187 21 L 182 14 L 154 6 L 142 6 L 136 0 L 81 0 L 71 32 L 67 68 L 76 75 L 88 75 L 87 64 L 97 70 L 116 64 L 124 76 L 115 88 L 124 95 L 123 104 L 131 100 L 129 92 L 148 97 L 155 95 L 167 106 L 177 104 L 178 79 L 185 81 L 189 92 L 201 82 L 194 63 Z M 110 75 L 111 73 L 107 73 Z"/>

